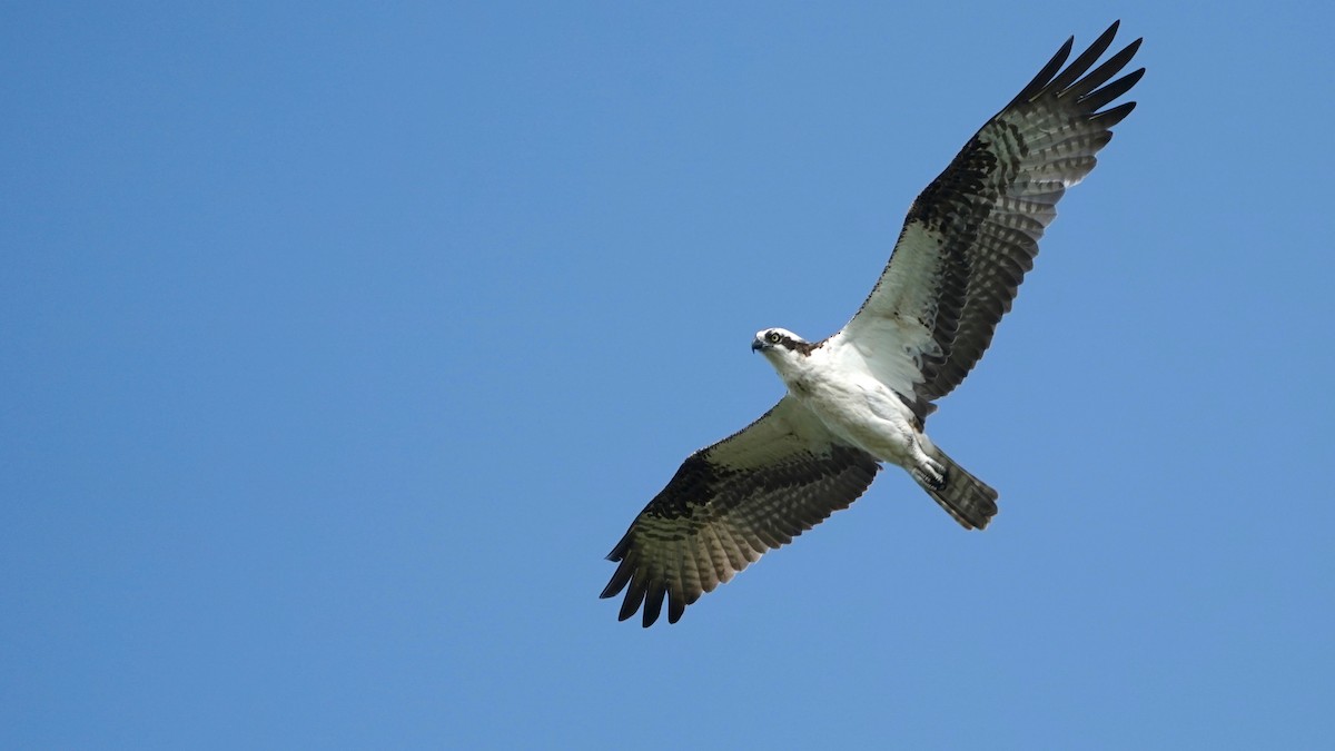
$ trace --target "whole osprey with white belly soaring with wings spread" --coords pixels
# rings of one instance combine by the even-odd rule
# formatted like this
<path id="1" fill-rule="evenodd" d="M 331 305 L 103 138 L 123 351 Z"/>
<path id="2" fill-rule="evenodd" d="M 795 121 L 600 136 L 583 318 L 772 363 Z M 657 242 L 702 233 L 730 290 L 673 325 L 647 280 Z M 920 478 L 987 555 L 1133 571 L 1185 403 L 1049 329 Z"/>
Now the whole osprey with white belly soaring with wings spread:
<path id="1" fill-rule="evenodd" d="M 663 599 L 677 623 L 705 592 L 788 544 L 872 484 L 880 462 L 908 470 L 967 529 L 997 513 L 997 492 L 922 432 L 936 400 L 983 357 L 1011 309 L 1065 188 L 1135 102 L 1104 110 L 1144 68 L 1112 83 L 1135 40 L 1097 68 L 1117 23 L 1063 69 L 1073 37 L 964 146 L 909 207 L 872 294 L 837 334 L 808 342 L 785 329 L 752 350 L 788 393 L 741 432 L 693 453 L 635 517 L 609 560 L 602 597 L 626 589 L 619 619 Z"/>

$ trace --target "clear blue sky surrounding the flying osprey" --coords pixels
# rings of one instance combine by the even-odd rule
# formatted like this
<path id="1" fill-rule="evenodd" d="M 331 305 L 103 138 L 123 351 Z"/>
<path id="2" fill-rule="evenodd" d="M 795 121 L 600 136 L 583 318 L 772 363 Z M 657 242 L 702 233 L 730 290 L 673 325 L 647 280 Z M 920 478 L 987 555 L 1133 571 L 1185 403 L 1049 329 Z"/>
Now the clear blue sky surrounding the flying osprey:
<path id="1" fill-rule="evenodd" d="M 752 334 L 837 330 L 1115 17 L 1140 107 L 930 422 L 993 525 L 886 472 L 617 623 L 602 556 L 781 393 Z M 1328 743 L 1332 25 L 8 4 L 0 746 Z"/>

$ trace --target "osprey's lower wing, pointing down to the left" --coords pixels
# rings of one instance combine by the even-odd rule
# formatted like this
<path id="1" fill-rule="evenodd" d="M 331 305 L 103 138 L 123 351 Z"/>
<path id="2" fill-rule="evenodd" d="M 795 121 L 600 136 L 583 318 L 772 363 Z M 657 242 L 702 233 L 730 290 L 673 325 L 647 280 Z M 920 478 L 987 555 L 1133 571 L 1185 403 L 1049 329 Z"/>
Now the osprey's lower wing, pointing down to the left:
<path id="1" fill-rule="evenodd" d="M 682 462 L 607 555 L 619 561 L 602 597 L 622 589 L 621 620 L 643 604 L 668 620 L 766 551 L 785 545 L 866 490 L 880 465 L 834 440 L 793 397 Z"/>

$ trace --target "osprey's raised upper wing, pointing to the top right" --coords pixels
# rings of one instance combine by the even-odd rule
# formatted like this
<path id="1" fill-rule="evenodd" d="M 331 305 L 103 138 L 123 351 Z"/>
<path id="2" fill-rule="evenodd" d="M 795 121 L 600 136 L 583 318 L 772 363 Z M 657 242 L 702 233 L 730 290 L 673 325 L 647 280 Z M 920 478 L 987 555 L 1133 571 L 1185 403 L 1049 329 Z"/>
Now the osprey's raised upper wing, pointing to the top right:
<path id="1" fill-rule="evenodd" d="M 1109 128 L 1135 108 L 1127 102 L 1103 110 L 1144 73 L 1107 83 L 1131 61 L 1139 39 L 1089 69 L 1116 32 L 1113 23 L 1061 69 L 1068 39 L 983 126 L 913 202 L 870 297 L 836 334 L 912 400 L 920 417 L 983 357 L 1033 267 L 1057 200 L 1093 170 L 1095 154 L 1112 139 Z"/>

